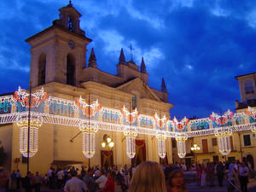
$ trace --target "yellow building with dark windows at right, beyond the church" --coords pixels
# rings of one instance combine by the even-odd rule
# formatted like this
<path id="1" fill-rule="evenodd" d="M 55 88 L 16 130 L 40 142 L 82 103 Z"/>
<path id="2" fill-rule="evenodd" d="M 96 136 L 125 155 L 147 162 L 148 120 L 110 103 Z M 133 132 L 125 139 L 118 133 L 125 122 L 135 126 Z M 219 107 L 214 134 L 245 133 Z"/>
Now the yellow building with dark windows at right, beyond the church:
<path id="1" fill-rule="evenodd" d="M 247 113 L 247 108 L 256 107 L 256 73 L 249 73 L 235 77 L 239 83 L 241 102 L 236 100 L 236 113 Z M 248 123 L 255 122 L 250 117 Z M 246 122 L 241 122 L 241 124 Z M 256 165 L 256 136 L 251 130 L 233 132 L 230 137 L 231 152 L 227 156 L 218 151 L 218 138 L 214 136 L 194 137 L 192 143 L 197 143 L 201 150 L 194 151 L 196 160 L 200 162 L 207 161 L 225 161 L 225 160 L 247 160 L 254 167 Z M 191 152 L 191 150 L 188 148 Z M 193 156 L 194 156 L 193 155 Z"/>

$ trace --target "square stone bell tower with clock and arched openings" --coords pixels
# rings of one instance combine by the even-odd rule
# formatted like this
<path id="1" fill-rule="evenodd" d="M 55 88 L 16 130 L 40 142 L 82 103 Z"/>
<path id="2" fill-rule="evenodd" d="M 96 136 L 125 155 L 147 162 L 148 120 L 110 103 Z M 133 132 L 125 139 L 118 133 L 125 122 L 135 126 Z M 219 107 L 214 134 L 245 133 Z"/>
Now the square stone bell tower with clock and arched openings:
<path id="1" fill-rule="evenodd" d="M 32 47 L 32 87 L 50 82 L 79 86 L 86 46 L 91 39 L 80 29 L 82 15 L 73 8 L 71 1 L 59 11 L 59 19 L 54 20 L 52 26 L 26 39 Z"/>

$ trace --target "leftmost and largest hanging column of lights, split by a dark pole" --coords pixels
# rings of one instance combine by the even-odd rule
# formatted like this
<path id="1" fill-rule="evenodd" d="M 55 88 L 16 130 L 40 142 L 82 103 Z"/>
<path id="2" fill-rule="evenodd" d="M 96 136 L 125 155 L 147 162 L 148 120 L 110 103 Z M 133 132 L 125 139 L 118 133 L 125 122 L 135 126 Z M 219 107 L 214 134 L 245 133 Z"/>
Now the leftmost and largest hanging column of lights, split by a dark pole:
<path id="1" fill-rule="evenodd" d="M 32 115 L 29 130 L 29 152 L 27 153 L 28 117 L 24 115 L 17 122 L 20 127 L 20 154 L 24 157 L 32 157 L 38 152 L 38 128 L 42 125 L 42 117 Z"/>

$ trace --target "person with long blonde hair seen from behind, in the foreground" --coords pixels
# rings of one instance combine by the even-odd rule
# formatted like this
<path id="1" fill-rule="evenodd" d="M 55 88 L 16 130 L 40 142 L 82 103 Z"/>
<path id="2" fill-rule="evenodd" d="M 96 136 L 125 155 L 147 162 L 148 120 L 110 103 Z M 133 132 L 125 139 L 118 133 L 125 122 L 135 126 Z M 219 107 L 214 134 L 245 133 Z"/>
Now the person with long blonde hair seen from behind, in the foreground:
<path id="1" fill-rule="evenodd" d="M 131 178 L 130 192 L 166 192 L 166 179 L 157 162 L 145 161 Z"/>

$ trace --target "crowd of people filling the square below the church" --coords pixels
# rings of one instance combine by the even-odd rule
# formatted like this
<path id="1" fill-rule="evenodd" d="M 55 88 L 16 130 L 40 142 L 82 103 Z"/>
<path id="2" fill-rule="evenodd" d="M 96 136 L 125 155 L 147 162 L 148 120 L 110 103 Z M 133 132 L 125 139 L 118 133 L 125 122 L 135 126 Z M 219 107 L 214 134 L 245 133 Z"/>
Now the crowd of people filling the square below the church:
<path id="1" fill-rule="evenodd" d="M 38 172 L 27 172 L 26 177 L 21 177 L 20 171 L 8 172 L 0 169 L 0 177 L 6 177 L 5 183 L 0 180 L 0 192 L 7 189 L 24 188 L 26 192 L 40 192 L 44 184 L 49 189 L 60 189 L 68 192 L 114 192 L 116 187 L 122 192 L 183 192 L 187 191 L 184 182 L 184 172 L 195 171 L 197 183 L 201 187 L 214 186 L 214 179 L 218 177 L 218 185 L 223 186 L 224 177 L 228 191 L 239 188 L 247 192 L 250 166 L 245 162 L 231 163 L 203 163 L 187 168 L 184 164 L 160 165 L 156 162 L 146 161 L 137 167 L 123 166 L 95 166 L 81 169 L 58 169 L 50 167 L 49 171 L 41 176 Z M 10 178 L 10 179 L 9 179 Z M 9 181 L 10 180 L 10 181 Z"/>

